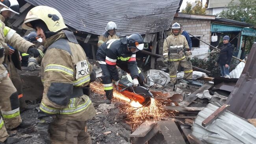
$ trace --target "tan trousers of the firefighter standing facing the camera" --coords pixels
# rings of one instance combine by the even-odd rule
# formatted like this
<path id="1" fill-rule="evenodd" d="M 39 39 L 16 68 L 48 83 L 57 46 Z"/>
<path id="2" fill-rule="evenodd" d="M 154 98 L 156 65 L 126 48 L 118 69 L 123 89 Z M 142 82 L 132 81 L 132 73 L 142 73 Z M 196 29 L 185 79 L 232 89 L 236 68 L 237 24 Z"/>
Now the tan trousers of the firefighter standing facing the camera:
<path id="1" fill-rule="evenodd" d="M 174 83 L 174 84 L 176 83 L 176 79 L 177 79 L 176 73 L 179 65 L 184 68 L 184 79 L 192 79 L 192 74 L 193 74 L 192 64 L 190 61 L 184 58 L 179 61 L 170 61 L 169 74 L 170 74 L 171 83 Z"/>

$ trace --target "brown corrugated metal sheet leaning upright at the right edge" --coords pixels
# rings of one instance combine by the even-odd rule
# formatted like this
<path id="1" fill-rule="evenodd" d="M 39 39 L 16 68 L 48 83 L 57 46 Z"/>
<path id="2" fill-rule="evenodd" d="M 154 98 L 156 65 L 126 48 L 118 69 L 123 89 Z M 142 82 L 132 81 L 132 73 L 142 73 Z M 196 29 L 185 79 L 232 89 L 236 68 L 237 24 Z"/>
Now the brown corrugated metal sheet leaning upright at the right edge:
<path id="1" fill-rule="evenodd" d="M 256 43 L 246 61 L 243 72 L 239 77 L 234 90 L 226 101 L 230 104 L 229 110 L 245 119 L 256 118 Z"/>

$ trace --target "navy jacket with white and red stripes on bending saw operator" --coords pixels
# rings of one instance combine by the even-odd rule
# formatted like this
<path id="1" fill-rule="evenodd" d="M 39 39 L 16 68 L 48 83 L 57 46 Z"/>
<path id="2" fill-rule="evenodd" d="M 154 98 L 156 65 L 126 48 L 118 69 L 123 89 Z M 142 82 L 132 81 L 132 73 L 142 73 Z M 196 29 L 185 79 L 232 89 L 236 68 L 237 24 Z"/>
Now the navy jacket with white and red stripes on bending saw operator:
<path id="1" fill-rule="evenodd" d="M 108 70 L 111 74 L 111 79 L 118 81 L 117 64 L 128 64 L 130 75 L 132 79 L 139 77 L 139 72 L 136 62 L 136 53 L 132 53 L 128 50 L 126 45 L 126 38 L 112 39 L 103 43 L 96 54 L 98 63 L 108 66 Z"/>

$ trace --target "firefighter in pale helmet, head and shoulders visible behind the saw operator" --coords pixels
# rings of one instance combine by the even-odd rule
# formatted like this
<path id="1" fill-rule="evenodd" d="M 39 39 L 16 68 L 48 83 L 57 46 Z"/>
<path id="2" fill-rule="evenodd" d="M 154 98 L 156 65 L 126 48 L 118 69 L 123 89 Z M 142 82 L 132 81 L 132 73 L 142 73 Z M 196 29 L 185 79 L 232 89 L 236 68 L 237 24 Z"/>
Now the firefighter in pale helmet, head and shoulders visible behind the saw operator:
<path id="1" fill-rule="evenodd" d="M 104 32 L 102 35 L 99 36 L 98 40 L 98 47 L 102 45 L 102 43 L 111 40 L 111 39 L 119 39 L 119 36 L 117 35 L 117 25 L 115 22 L 108 22 L 106 28 L 106 32 Z"/>

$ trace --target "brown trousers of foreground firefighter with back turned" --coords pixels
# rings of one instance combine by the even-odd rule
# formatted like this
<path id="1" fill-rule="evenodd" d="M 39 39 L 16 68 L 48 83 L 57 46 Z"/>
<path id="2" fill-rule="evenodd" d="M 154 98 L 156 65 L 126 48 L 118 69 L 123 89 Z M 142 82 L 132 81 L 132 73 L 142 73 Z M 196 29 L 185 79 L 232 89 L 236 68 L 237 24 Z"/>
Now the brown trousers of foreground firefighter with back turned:
<path id="1" fill-rule="evenodd" d="M 56 118 L 50 126 L 52 144 L 91 144 L 85 121 Z"/>

